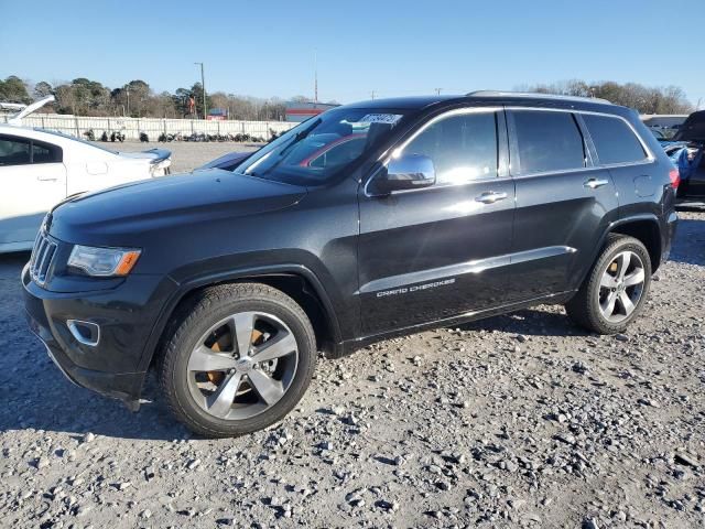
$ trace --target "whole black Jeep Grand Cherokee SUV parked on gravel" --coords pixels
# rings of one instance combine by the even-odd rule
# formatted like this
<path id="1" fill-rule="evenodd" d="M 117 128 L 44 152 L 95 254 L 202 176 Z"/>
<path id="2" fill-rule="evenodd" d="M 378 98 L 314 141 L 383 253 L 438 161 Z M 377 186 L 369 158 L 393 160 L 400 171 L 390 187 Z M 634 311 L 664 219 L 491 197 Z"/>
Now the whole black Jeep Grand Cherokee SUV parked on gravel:
<path id="1" fill-rule="evenodd" d="M 677 172 L 630 109 L 482 91 L 346 105 L 232 171 L 66 199 L 22 273 L 64 374 L 178 420 L 282 419 L 330 357 L 539 303 L 623 331 L 676 225 Z"/>

